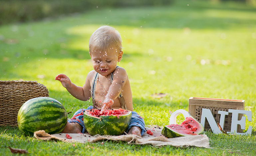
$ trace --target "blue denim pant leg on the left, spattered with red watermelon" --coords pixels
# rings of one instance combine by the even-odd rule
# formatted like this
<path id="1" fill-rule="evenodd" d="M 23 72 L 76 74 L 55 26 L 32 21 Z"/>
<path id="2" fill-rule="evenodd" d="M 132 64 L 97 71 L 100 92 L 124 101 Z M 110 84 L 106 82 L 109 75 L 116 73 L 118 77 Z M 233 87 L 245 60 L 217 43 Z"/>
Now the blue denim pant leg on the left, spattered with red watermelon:
<path id="1" fill-rule="evenodd" d="M 93 106 L 89 106 L 87 109 L 79 109 L 73 115 L 71 119 L 68 120 L 69 123 L 78 123 L 82 128 L 82 133 L 86 132 L 85 125 L 84 125 L 84 112 L 85 110 L 93 109 Z"/>

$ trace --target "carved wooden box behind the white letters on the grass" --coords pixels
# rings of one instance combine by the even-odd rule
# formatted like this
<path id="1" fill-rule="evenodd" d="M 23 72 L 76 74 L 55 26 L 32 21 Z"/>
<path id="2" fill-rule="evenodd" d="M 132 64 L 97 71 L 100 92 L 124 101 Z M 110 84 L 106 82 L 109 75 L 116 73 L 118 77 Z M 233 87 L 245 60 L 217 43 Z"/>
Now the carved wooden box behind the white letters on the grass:
<path id="1" fill-rule="evenodd" d="M 215 99 L 215 98 L 202 98 L 202 97 L 191 97 L 188 100 L 188 112 L 198 122 L 201 122 L 202 108 L 210 109 L 216 123 L 220 123 L 220 114 L 218 111 L 228 111 L 229 109 L 244 110 L 244 100 L 233 100 L 233 99 Z M 238 120 L 241 120 L 242 114 L 239 114 Z M 225 116 L 224 128 L 225 131 L 231 130 L 231 119 L 232 113 L 228 113 Z M 204 130 L 209 130 L 210 125 L 206 119 Z M 237 126 L 237 132 L 243 132 L 240 125 Z"/>

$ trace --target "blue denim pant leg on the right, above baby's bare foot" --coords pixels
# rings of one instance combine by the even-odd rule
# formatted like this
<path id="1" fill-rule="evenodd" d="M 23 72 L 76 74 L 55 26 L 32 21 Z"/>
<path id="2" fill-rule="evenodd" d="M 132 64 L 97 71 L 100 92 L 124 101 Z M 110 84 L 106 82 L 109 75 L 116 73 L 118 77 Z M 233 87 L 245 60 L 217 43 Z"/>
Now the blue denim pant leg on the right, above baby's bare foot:
<path id="1" fill-rule="evenodd" d="M 128 129 L 126 130 L 126 132 L 128 133 L 128 131 L 130 130 L 131 127 L 133 126 L 137 126 L 141 129 L 141 136 L 145 133 L 145 122 L 143 120 L 143 118 L 141 116 L 139 116 L 136 112 L 131 112 L 131 122 L 130 125 L 128 127 Z"/>

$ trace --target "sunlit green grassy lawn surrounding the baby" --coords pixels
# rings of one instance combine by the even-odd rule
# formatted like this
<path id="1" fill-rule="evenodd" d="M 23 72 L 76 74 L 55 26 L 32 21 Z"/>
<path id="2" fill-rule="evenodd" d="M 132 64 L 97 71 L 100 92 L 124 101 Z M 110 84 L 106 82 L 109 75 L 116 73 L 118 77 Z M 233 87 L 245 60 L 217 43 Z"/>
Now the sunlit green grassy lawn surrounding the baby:
<path id="1" fill-rule="evenodd" d="M 65 143 L 24 136 L 0 127 L 0 155 L 8 146 L 29 155 L 256 155 L 256 9 L 240 3 L 182 1 L 164 7 L 98 8 L 85 14 L 0 26 L 0 80 L 37 80 L 60 101 L 69 118 L 92 105 L 71 96 L 54 78 L 82 86 L 93 70 L 88 42 L 102 25 L 121 33 L 134 110 L 145 124 L 165 126 L 169 111 L 188 110 L 190 97 L 245 100 L 253 134 L 205 132 L 211 149 L 152 147 L 124 142 Z M 157 99 L 154 93 L 168 93 Z M 18 110 L 17 110 L 18 111 Z M 182 120 L 181 116 L 178 118 Z"/>

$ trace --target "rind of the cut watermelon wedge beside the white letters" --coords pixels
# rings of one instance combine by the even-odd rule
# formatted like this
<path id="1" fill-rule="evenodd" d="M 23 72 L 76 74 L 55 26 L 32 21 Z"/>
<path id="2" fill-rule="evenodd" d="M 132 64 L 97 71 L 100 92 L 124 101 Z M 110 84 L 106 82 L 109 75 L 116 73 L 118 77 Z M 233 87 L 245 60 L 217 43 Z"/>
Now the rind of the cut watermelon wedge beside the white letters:
<path id="1" fill-rule="evenodd" d="M 194 122 L 194 124 L 192 124 L 193 126 L 197 126 L 197 130 L 195 130 L 194 133 L 186 133 L 184 130 L 172 130 L 171 128 L 169 128 L 170 125 L 167 125 L 167 126 L 164 126 L 164 128 L 161 131 L 161 134 L 167 138 L 173 138 L 173 137 L 180 137 L 180 136 L 197 135 L 203 132 L 204 130 L 203 126 L 196 119 L 194 119 L 192 116 L 189 116 L 188 119 Z M 184 123 L 185 121 L 183 121 L 182 123 Z M 175 126 L 183 126 L 183 125 L 182 124 L 174 125 L 174 127 Z"/>

